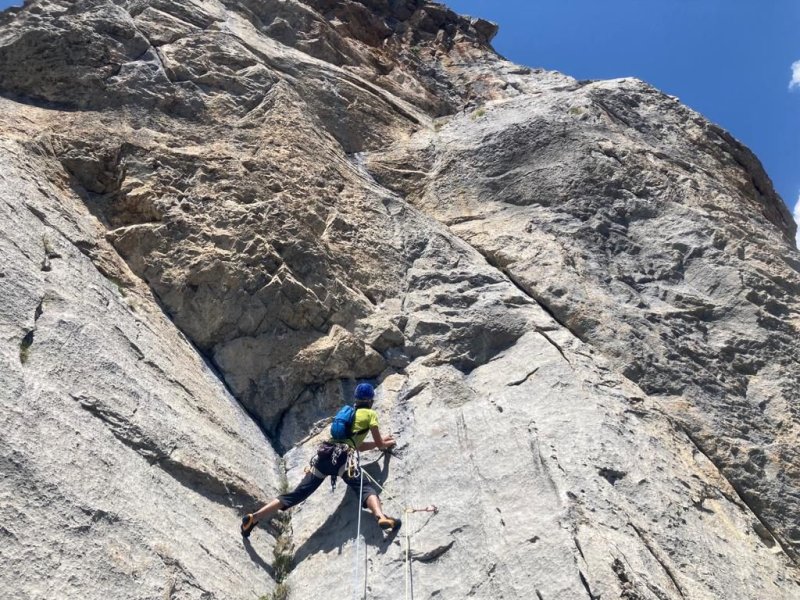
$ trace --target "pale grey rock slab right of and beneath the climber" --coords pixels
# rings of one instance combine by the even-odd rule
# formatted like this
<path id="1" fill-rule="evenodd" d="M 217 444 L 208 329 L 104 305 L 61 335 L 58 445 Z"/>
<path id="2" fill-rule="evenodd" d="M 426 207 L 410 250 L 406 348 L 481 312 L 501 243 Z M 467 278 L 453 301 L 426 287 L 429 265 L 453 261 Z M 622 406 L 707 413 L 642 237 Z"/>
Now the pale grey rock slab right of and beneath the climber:
<path id="1" fill-rule="evenodd" d="M 716 467 L 567 343 L 531 333 L 469 375 L 415 363 L 387 379 L 376 407 L 399 446 L 364 459 L 403 528 L 385 539 L 363 513 L 355 559 L 355 497 L 325 486 L 292 518 L 290 597 L 325 580 L 349 593 L 363 553 L 371 598 L 402 596 L 409 568 L 423 598 L 794 597 L 790 576 L 767 575 L 780 547 Z M 310 451 L 289 455 L 290 482 Z"/>

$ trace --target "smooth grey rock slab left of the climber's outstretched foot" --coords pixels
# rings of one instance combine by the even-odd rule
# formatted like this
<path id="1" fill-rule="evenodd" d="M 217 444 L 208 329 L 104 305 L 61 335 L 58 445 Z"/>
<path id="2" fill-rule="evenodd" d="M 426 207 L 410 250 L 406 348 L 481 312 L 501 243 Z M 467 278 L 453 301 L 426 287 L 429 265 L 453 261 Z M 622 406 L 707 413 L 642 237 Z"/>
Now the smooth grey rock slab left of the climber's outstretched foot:
<path id="1" fill-rule="evenodd" d="M 3 104 L 4 596 L 265 593 L 262 566 L 228 533 L 280 487 L 268 440 L 103 240 L 60 164 L 24 140 L 33 115 Z"/>

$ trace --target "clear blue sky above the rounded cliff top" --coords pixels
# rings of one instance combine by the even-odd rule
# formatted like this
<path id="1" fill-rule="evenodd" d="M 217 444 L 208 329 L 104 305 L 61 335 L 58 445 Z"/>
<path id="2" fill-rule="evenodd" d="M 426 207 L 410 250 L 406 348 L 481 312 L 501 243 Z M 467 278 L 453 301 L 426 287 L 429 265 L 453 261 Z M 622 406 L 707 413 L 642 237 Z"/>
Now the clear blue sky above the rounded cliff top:
<path id="1" fill-rule="evenodd" d="M 578 79 L 638 77 L 678 96 L 749 146 L 786 203 L 797 203 L 800 0 L 446 3 L 499 23 L 495 48 L 514 62 Z"/>

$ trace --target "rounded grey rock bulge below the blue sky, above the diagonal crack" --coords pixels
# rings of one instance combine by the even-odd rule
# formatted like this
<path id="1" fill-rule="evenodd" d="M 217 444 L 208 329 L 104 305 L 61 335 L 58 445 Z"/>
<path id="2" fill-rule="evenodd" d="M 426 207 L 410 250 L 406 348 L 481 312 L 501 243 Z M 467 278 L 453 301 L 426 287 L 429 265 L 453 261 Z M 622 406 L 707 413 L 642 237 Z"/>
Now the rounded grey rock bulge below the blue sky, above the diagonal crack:
<path id="1" fill-rule="evenodd" d="M 797 552 L 800 257 L 750 152 L 621 80 L 460 115 L 369 164 L 658 398 Z"/>

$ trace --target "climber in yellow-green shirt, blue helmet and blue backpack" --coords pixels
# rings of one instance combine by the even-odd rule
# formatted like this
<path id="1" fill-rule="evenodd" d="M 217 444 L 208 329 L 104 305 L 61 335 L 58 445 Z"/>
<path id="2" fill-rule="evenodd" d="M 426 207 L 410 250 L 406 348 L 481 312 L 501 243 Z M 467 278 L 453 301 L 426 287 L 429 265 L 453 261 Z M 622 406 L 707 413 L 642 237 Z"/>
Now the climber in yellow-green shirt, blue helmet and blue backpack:
<path id="1" fill-rule="evenodd" d="M 356 494 L 361 492 L 361 507 L 368 508 L 378 521 L 378 526 L 386 531 L 400 528 L 398 518 L 389 517 L 383 512 L 378 491 L 372 482 L 359 476 L 357 453 L 365 450 L 389 450 L 396 442 L 392 436 L 383 437 L 378 428 L 378 414 L 372 410 L 375 401 L 375 388 L 369 383 L 360 383 L 354 392 L 355 420 L 352 425 L 352 436 L 349 439 L 330 439 L 320 444 L 317 453 L 311 460 L 311 467 L 298 486 L 287 494 L 282 494 L 265 504 L 258 511 L 242 518 L 241 531 L 244 537 L 259 522 L 270 519 L 278 511 L 285 511 L 300 504 L 322 484 L 326 477 L 341 477 Z M 364 439 L 372 433 L 371 442 Z"/>

